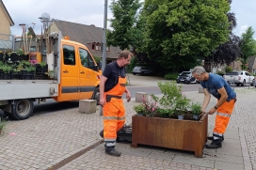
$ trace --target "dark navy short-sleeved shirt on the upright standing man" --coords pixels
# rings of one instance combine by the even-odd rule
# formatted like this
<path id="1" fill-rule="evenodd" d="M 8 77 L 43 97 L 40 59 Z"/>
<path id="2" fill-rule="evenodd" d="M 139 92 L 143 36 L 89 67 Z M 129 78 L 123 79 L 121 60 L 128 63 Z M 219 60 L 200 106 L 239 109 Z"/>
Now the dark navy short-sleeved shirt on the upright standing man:
<path id="1" fill-rule="evenodd" d="M 119 76 L 121 78 L 126 76 L 124 68 L 120 67 L 117 61 L 109 63 L 105 67 L 103 75 L 107 78 L 104 84 L 104 92 L 111 90 L 115 85 L 118 84 Z"/>

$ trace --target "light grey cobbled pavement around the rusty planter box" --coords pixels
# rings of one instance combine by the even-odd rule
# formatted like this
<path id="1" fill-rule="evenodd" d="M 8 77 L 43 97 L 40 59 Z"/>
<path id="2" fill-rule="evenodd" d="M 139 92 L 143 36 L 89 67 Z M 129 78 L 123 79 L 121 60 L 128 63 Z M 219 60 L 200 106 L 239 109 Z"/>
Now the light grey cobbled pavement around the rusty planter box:
<path id="1" fill-rule="evenodd" d="M 194 101 L 202 100 L 202 94 L 197 92 L 185 95 Z M 237 97 L 223 147 L 204 150 L 203 159 L 195 158 L 191 152 L 158 147 L 133 148 L 129 144 L 118 145 L 123 152 L 120 158 L 105 155 L 103 144 L 87 151 L 102 140 L 98 134 L 103 127 L 102 116 L 99 108 L 91 115 L 80 114 L 78 108 L 74 108 L 8 122 L 0 136 L 0 170 L 50 169 L 58 162 L 72 159 L 81 150 L 87 152 L 59 169 L 256 169 L 256 89 L 237 90 Z M 212 99 L 211 104 L 215 101 Z M 126 123 L 129 124 L 136 102 L 133 99 L 125 104 Z M 209 116 L 210 131 L 214 119 L 215 116 Z M 9 135 L 13 132 L 16 135 Z"/>

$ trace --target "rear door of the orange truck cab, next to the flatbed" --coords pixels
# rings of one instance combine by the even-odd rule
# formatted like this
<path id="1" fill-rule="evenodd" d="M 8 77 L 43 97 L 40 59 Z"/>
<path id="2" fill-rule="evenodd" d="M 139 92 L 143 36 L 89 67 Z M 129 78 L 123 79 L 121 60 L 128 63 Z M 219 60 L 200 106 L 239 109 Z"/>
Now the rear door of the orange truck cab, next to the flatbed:
<path id="1" fill-rule="evenodd" d="M 61 51 L 59 101 L 78 100 L 78 62 L 75 46 L 63 44 Z"/>

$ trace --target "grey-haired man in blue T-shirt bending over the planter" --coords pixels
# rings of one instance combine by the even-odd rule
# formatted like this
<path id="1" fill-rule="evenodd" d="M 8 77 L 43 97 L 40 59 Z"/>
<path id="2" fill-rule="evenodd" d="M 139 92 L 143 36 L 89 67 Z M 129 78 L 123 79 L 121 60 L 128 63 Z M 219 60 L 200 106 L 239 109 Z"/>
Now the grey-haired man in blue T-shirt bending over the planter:
<path id="1" fill-rule="evenodd" d="M 213 136 L 208 137 L 209 140 L 213 141 L 210 145 L 206 145 L 205 147 L 222 147 L 221 143 L 224 140 L 224 132 L 227 129 L 232 115 L 236 94 L 223 77 L 217 74 L 207 73 L 203 67 L 195 67 L 194 70 L 192 70 L 192 74 L 200 81 L 200 85 L 203 87 L 204 100 L 201 107 L 202 114 L 205 113 L 205 109 L 211 99 L 211 94 L 217 99 L 216 105 L 209 111 L 209 115 L 216 113 L 216 125 Z"/>

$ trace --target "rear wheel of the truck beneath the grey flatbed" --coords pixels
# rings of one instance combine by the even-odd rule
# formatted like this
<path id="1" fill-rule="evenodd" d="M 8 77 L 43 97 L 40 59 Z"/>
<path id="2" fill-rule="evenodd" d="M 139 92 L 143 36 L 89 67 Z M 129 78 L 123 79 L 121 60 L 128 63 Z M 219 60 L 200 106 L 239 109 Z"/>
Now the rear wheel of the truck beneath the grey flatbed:
<path id="1" fill-rule="evenodd" d="M 31 116 L 33 110 L 33 100 L 14 100 L 14 104 L 11 105 L 11 117 L 23 120 Z"/>

